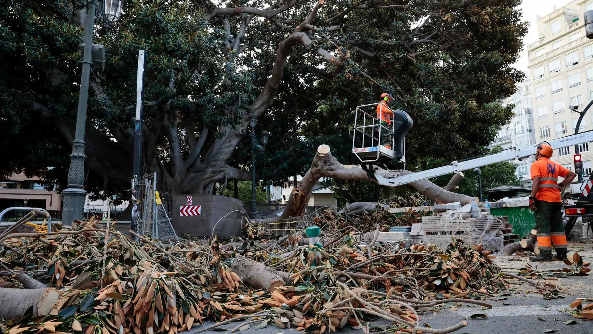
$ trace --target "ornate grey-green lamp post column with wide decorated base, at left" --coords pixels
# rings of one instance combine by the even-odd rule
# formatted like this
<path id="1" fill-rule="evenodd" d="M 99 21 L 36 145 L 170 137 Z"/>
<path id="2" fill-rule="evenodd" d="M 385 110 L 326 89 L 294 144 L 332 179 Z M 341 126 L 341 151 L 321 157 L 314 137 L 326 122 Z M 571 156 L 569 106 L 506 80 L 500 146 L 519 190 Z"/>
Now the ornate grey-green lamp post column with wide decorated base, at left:
<path id="1" fill-rule="evenodd" d="M 68 169 L 68 189 L 62 191 L 62 225 L 71 225 L 72 220 L 82 220 L 84 200 L 87 191 L 84 185 L 84 130 L 87 122 L 88 80 L 91 77 L 91 61 L 93 59 L 93 28 L 95 24 L 94 0 L 88 4 L 87 26 L 85 27 L 84 53 L 82 55 L 82 75 L 80 93 L 78 94 L 78 112 L 76 114 L 76 130 L 72 141 L 70 169 Z"/>

